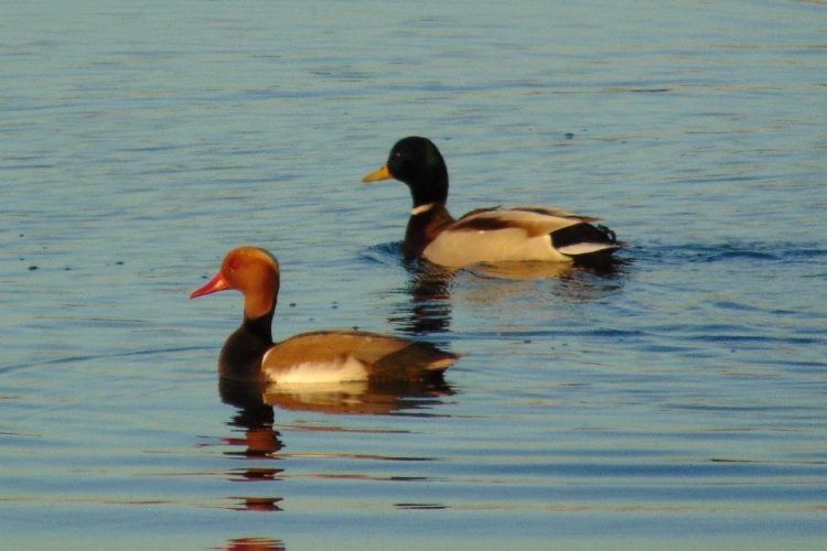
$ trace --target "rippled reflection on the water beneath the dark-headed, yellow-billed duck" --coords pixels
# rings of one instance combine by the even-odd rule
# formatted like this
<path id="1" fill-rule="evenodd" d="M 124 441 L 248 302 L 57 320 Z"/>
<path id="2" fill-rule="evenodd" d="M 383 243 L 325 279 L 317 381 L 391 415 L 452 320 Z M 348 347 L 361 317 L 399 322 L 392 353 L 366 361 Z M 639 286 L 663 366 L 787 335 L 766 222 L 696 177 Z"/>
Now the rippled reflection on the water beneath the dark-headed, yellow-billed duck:
<path id="1" fill-rule="evenodd" d="M 397 306 L 388 321 L 408 335 L 429 335 L 451 331 L 452 294 L 468 291 L 474 303 L 494 303 L 517 295 L 535 295 L 537 282 L 551 282 L 550 292 L 561 299 L 587 302 L 621 290 L 632 260 L 611 258 L 598 263 L 507 262 L 475 264 L 454 270 L 428 261 L 407 261 L 400 244 L 372 248 L 367 257 L 379 263 L 401 266 L 408 281 L 400 294 L 409 301 Z"/>

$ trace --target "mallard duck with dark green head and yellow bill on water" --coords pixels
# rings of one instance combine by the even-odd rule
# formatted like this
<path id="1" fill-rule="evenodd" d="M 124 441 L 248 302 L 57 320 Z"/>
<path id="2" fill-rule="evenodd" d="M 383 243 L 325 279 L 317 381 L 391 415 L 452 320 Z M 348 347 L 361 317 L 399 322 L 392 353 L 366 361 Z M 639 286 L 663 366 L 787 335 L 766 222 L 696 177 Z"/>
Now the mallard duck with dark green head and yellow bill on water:
<path id="1" fill-rule="evenodd" d="M 481 262 L 574 262 L 605 259 L 623 247 L 597 218 L 541 206 L 479 208 L 454 219 L 448 201 L 448 168 L 427 138 L 399 140 L 388 162 L 364 182 L 396 179 L 414 199 L 402 242 L 407 258 L 462 268 Z"/>

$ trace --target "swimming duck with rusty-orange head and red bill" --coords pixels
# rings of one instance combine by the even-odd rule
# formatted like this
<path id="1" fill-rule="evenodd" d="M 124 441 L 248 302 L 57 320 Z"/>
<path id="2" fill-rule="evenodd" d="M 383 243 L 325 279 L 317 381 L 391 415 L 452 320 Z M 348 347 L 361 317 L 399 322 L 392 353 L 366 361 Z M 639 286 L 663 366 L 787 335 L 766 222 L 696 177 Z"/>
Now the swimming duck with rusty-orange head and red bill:
<path id="1" fill-rule="evenodd" d="M 362 331 L 319 331 L 273 343 L 278 285 L 278 262 L 272 255 L 241 247 L 227 255 L 213 280 L 190 295 L 236 289 L 245 296 L 241 326 L 227 338 L 218 357 L 223 378 L 286 386 L 439 380 L 460 358 L 430 343 Z"/>

